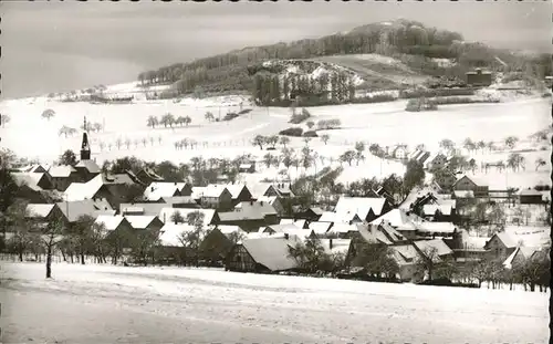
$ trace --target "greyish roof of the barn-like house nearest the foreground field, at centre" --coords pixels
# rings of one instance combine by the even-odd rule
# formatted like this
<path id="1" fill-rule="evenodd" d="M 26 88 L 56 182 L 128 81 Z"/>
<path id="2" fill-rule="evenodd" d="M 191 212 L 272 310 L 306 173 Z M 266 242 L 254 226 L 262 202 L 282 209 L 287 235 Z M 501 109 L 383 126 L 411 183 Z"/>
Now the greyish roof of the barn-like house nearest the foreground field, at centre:
<path id="1" fill-rule="evenodd" d="M 290 248 L 301 240 L 295 236 L 285 238 L 251 238 L 244 239 L 242 246 L 251 258 L 271 271 L 284 271 L 298 268 L 298 262 L 290 257 Z"/>

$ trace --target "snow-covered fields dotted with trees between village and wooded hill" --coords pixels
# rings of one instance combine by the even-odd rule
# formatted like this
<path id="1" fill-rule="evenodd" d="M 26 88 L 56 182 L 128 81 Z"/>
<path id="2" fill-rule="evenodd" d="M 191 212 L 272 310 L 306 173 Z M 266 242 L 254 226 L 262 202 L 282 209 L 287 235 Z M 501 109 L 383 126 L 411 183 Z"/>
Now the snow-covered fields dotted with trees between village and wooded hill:
<path id="1" fill-rule="evenodd" d="M 135 83 L 115 85 L 107 92 L 123 92 L 127 87 L 136 91 Z M 134 87 L 134 88 L 133 88 Z M 113 88 L 113 90 L 112 90 Z M 127 91 L 128 91 L 127 90 Z M 134 92 L 133 91 L 133 92 Z M 205 118 L 206 112 L 213 113 L 215 117 L 222 118 L 227 112 L 238 112 L 240 103 L 243 108 L 252 108 L 249 114 L 230 122 L 209 122 Z M 465 138 L 472 140 L 483 139 L 486 142 L 502 142 L 504 137 L 514 135 L 521 139 L 551 123 L 549 115 L 551 101 L 544 98 L 518 100 L 500 104 L 467 104 L 441 106 L 436 112 L 408 113 L 405 112 L 405 101 L 378 104 L 354 104 L 338 106 L 310 107 L 312 121 L 338 118 L 342 122 L 341 129 L 320 131 L 319 135 L 328 134 L 330 140 L 324 145 L 320 138 L 313 138 L 310 146 L 323 160 L 312 170 L 321 169 L 335 160 L 342 153 L 353 149 L 356 140 L 367 144 L 379 144 L 380 146 L 393 146 L 407 144 L 413 149 L 418 144 L 425 144 L 427 149 L 437 150 L 438 143 L 444 138 L 455 140 L 458 146 L 462 145 Z M 50 121 L 41 118 L 44 110 L 51 108 L 55 116 Z M 158 126 L 155 129 L 147 127 L 149 116 L 160 117 L 170 112 L 175 117 L 190 116 L 189 126 L 165 128 Z M 274 135 L 291 126 L 289 108 L 278 107 L 252 107 L 243 96 L 220 96 L 204 100 L 184 98 L 178 103 L 173 101 L 137 101 L 135 104 L 97 105 L 88 103 L 61 103 L 46 97 L 35 100 L 15 100 L 0 103 L 0 113 L 9 115 L 11 122 L 0 128 L 3 147 L 8 147 L 20 156 L 38 159 L 44 164 L 52 164 L 65 149 L 79 152 L 81 135 L 65 137 L 59 135 L 62 126 L 76 128 L 83 117 L 88 122 L 105 125 L 104 132 L 91 133 L 93 157 L 98 164 L 105 159 L 114 159 L 122 156 L 139 156 L 146 160 L 171 160 L 174 163 L 187 161 L 194 156 L 234 158 L 241 154 L 252 154 L 262 158 L 267 153 L 251 145 L 255 135 Z M 161 140 L 159 140 L 159 138 Z M 175 149 L 175 142 L 184 138 L 199 142 L 197 149 Z M 123 145 L 118 149 L 117 140 Z M 129 139 L 127 148 L 124 144 Z M 103 143 L 101 147 L 100 143 Z M 207 143 L 202 145 L 202 143 Z M 296 152 L 305 143 L 302 138 L 292 138 L 290 146 Z M 280 148 L 280 147 L 279 147 Z M 550 161 L 550 150 L 528 153 L 526 171 L 510 173 L 509 175 L 491 171 L 482 177 L 490 180 L 505 180 L 514 187 L 532 187 L 540 181 L 549 183 L 549 170 L 551 166 L 534 170 L 536 156 Z M 507 154 L 503 154 L 507 156 Z M 341 181 L 348 183 L 364 177 L 386 176 L 390 173 L 403 174 L 404 166 L 394 161 L 380 161 L 372 157 L 368 152 L 367 159 L 358 166 L 344 165 L 345 171 Z M 481 160 L 497 160 L 503 156 L 487 156 L 477 153 L 473 156 L 478 163 Z M 336 166 L 337 163 L 334 163 Z M 281 166 L 280 168 L 283 168 Z M 295 171 L 291 168 L 290 175 L 303 173 L 302 168 Z M 269 169 L 265 177 L 273 177 L 276 169 Z M 504 187 L 504 183 L 503 183 Z M 501 188 L 501 186 L 498 186 Z"/>

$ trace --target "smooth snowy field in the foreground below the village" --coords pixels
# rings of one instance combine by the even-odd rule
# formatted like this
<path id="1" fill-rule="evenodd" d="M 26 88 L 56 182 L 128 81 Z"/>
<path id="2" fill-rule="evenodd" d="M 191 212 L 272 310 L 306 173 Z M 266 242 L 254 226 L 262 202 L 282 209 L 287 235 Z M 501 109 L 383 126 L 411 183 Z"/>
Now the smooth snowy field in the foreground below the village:
<path id="1" fill-rule="evenodd" d="M 549 293 L 6 263 L 6 343 L 546 343 Z"/>

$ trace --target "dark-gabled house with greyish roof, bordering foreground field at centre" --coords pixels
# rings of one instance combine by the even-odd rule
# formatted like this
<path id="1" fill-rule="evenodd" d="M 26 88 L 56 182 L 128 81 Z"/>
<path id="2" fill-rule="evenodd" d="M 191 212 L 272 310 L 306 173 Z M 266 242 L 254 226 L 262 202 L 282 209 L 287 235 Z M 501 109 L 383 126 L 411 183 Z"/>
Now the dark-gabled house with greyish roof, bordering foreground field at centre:
<path id="1" fill-rule="evenodd" d="M 295 236 L 251 238 L 236 244 L 226 259 L 225 268 L 240 272 L 279 272 L 298 268 L 290 249 L 302 242 Z"/>

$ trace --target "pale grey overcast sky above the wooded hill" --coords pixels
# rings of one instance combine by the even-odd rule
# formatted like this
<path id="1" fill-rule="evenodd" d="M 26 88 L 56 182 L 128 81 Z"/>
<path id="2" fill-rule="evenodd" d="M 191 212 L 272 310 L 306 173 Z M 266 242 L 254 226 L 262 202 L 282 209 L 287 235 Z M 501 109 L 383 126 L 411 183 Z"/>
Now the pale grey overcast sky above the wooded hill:
<path id="1" fill-rule="evenodd" d="M 405 18 L 498 48 L 551 52 L 551 1 L 0 2 L 2 98 L 136 80 L 246 46 Z"/>

